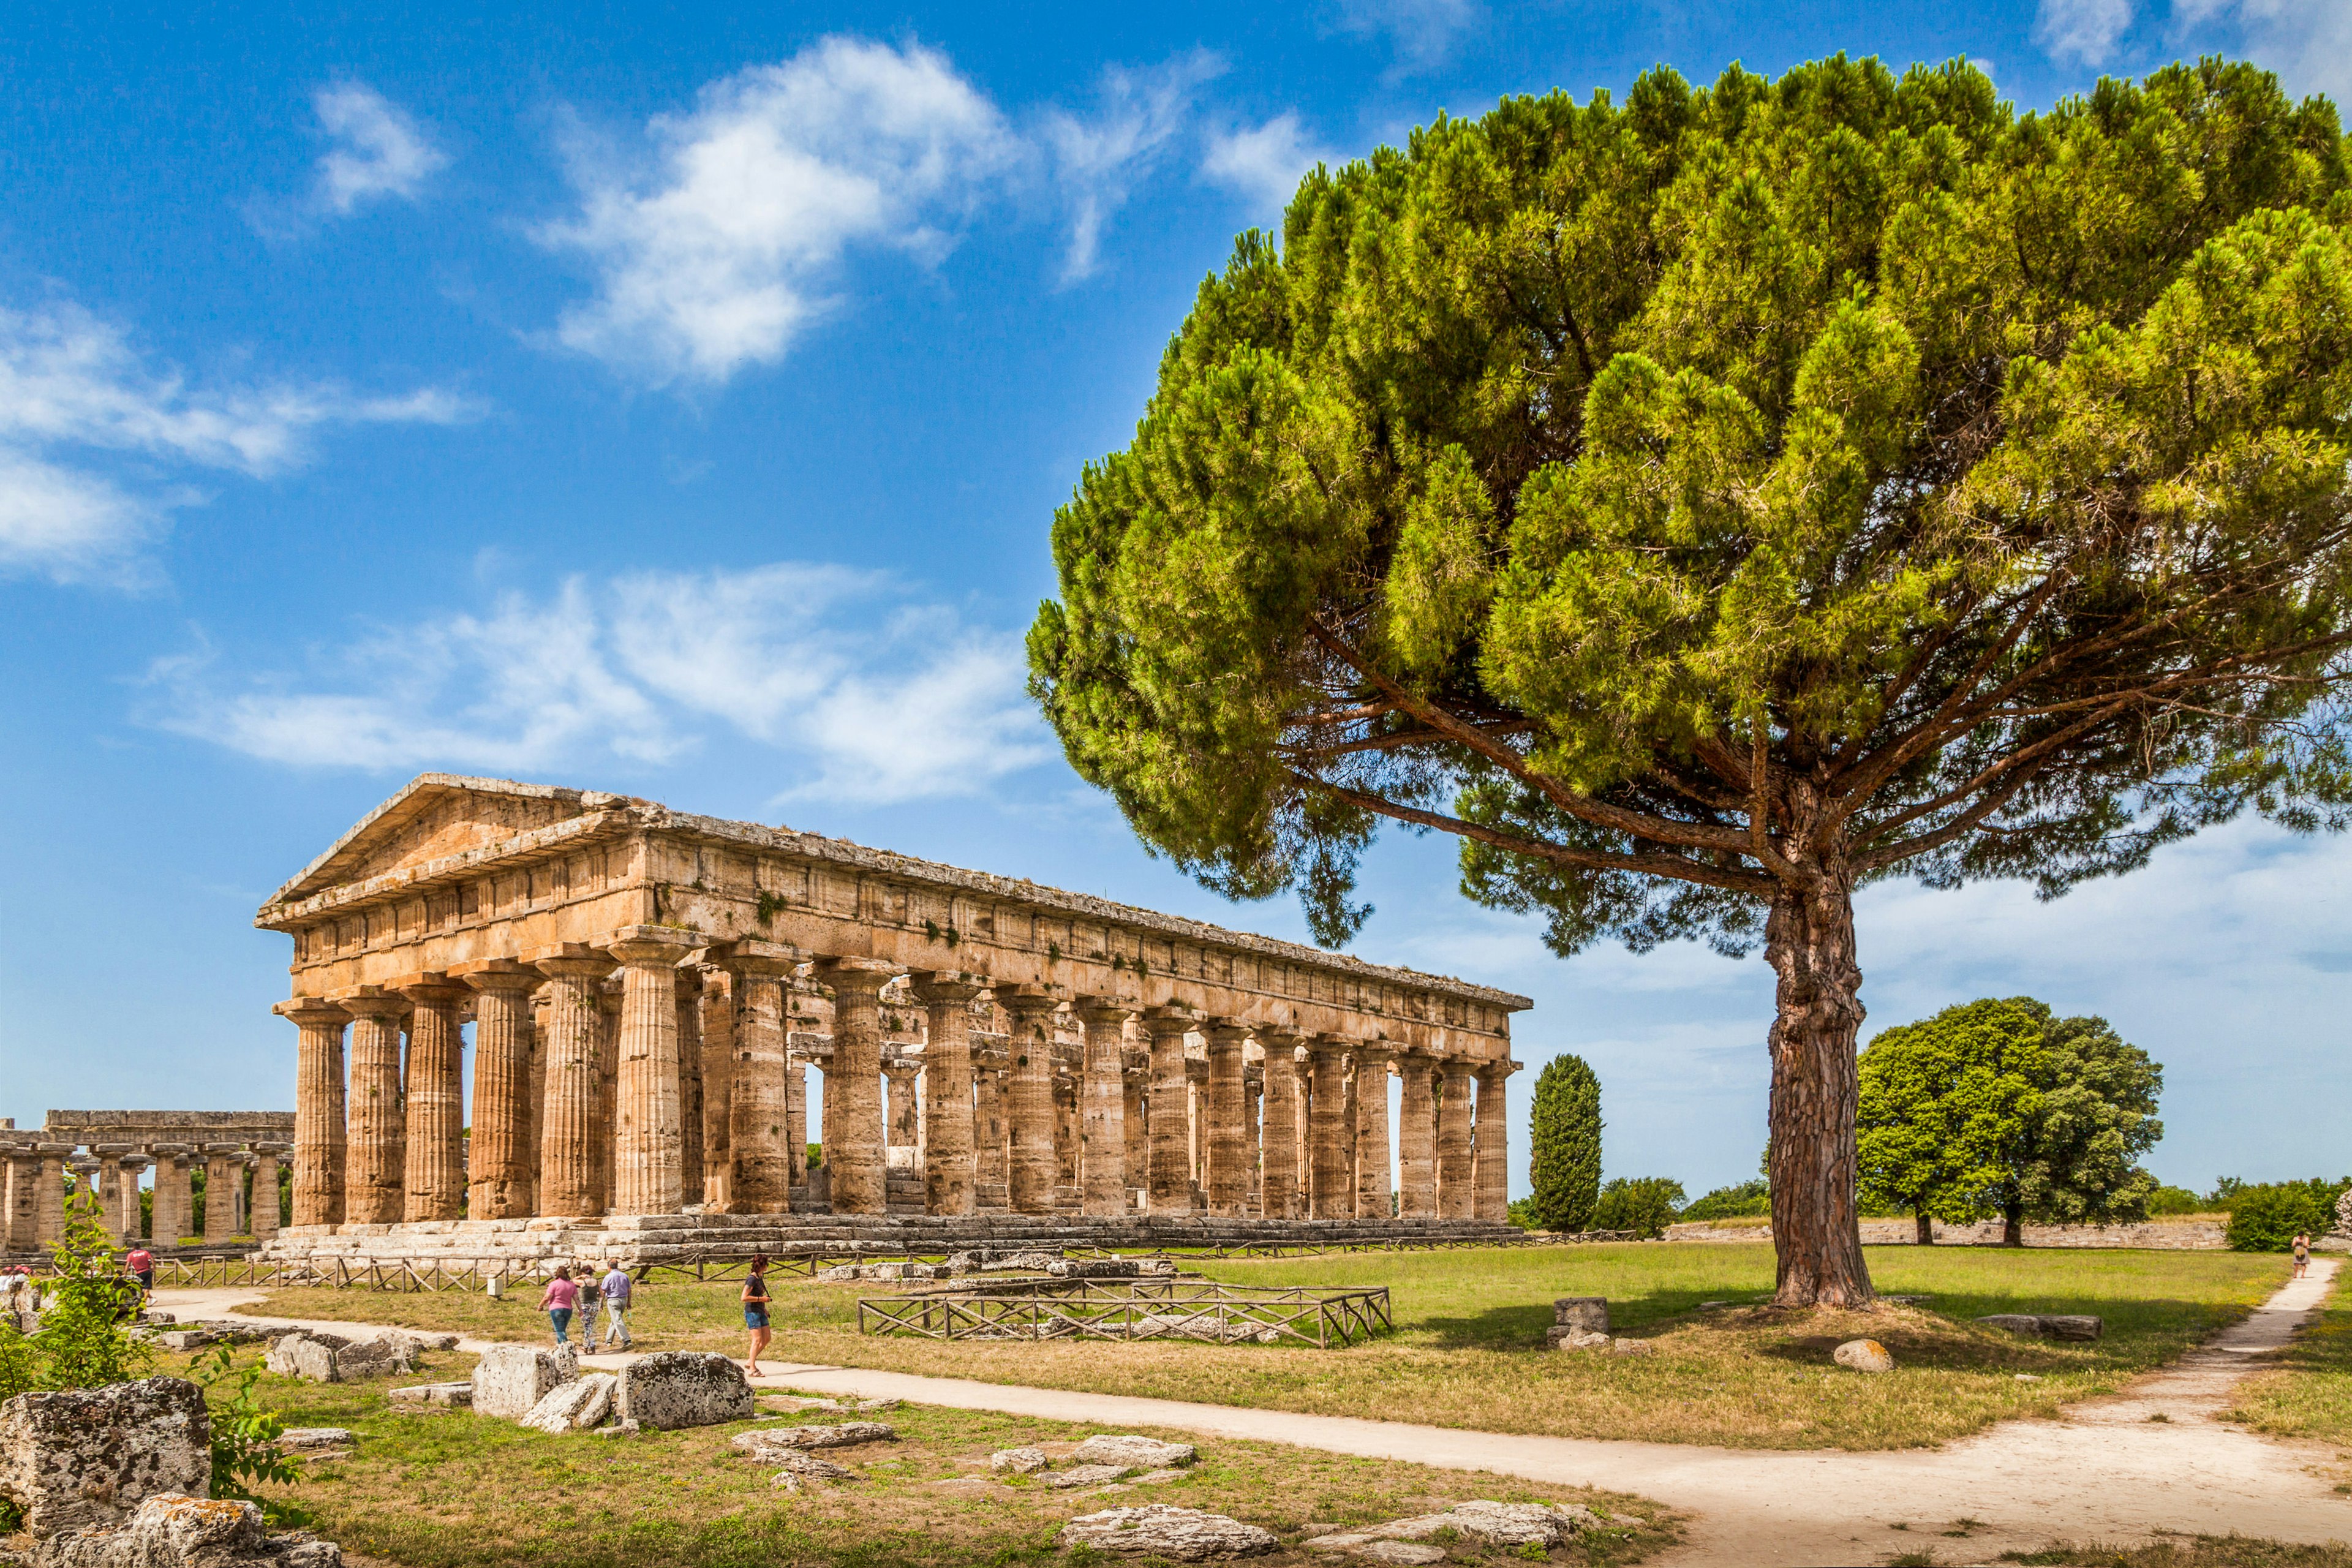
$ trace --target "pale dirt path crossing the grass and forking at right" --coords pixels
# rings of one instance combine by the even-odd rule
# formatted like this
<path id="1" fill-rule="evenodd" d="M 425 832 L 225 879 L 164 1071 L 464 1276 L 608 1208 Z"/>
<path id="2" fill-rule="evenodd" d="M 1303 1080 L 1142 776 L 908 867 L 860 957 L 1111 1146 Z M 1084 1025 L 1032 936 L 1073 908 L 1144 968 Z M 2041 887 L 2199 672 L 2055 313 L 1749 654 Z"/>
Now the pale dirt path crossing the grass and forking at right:
<path id="1" fill-rule="evenodd" d="M 779 1363 L 760 1382 L 1606 1486 L 1693 1516 L 1689 1540 L 1658 1559 L 1658 1568 L 1877 1563 L 1922 1547 L 1969 1563 L 2053 1540 L 2124 1542 L 2164 1530 L 2326 1542 L 2352 1540 L 2352 1500 L 2314 1472 L 2333 1460 L 2333 1448 L 2274 1443 L 2213 1415 L 2227 1408 L 2251 1356 L 2284 1345 L 2319 1305 L 2336 1267 L 2314 1260 L 2310 1279 L 2286 1284 L 2237 1328 L 2122 1394 L 2070 1406 L 2063 1420 L 2004 1422 L 1945 1448 L 1905 1453 L 1512 1436 L 837 1366 Z M 240 1298 L 252 1291 L 160 1291 L 158 1305 L 221 1316 Z M 593 1361 L 619 1366 L 621 1356 Z M 1978 1523 L 1957 1535 L 1959 1521 Z"/>

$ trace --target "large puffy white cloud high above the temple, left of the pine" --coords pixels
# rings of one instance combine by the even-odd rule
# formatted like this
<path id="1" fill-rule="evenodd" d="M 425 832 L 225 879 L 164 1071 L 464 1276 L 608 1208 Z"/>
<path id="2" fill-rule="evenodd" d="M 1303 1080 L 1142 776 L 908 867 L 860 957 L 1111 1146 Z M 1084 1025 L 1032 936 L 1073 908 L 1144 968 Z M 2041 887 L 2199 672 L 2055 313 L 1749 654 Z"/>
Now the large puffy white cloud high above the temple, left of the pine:
<path id="1" fill-rule="evenodd" d="M 713 82 L 649 132 L 642 176 L 576 160 L 581 214 L 543 240 L 597 273 L 557 336 L 654 383 L 774 364 L 851 249 L 938 256 L 1016 150 L 943 54 L 856 38 Z"/>

